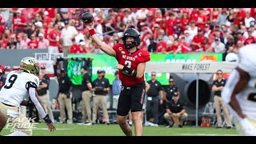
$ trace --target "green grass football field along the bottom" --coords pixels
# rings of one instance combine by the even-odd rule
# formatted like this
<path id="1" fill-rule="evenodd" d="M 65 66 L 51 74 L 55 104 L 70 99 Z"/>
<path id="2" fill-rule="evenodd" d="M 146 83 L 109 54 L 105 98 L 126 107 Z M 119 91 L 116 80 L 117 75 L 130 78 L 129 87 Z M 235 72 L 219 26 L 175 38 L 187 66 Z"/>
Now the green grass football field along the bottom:
<path id="1" fill-rule="evenodd" d="M 124 136 L 122 130 L 116 124 L 106 126 L 104 124 L 93 126 L 81 126 L 77 124 L 54 124 L 56 131 L 51 132 L 47 129 L 46 124 L 40 123 L 33 130 L 34 136 Z M 132 126 L 134 134 L 134 126 Z M 0 135 L 10 134 L 10 129 L 4 129 Z M 184 126 L 183 128 L 165 126 L 144 126 L 144 136 L 235 136 L 236 130 L 232 129 L 216 129 L 215 127 L 195 127 Z"/>

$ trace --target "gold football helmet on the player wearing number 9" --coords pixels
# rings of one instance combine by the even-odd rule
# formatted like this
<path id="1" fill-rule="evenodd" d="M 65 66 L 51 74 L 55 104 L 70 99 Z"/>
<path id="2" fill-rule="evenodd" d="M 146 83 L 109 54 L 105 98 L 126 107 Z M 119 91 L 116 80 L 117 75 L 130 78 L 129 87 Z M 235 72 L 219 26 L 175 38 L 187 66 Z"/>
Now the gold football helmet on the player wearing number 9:
<path id="1" fill-rule="evenodd" d="M 20 63 L 20 70 L 25 70 L 30 74 L 38 76 L 40 72 L 38 61 L 32 57 L 23 58 Z"/>

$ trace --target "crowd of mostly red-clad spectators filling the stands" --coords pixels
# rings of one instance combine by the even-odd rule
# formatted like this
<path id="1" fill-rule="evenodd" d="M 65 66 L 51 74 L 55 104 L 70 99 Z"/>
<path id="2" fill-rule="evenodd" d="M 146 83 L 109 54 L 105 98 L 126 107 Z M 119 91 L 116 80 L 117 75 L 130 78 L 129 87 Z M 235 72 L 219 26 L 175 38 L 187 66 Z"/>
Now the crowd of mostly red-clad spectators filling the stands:
<path id="1" fill-rule="evenodd" d="M 85 11 L 110 46 L 130 27 L 152 53 L 236 53 L 256 42 L 255 8 L 1 8 L 1 49 L 101 54 L 79 18 Z"/>

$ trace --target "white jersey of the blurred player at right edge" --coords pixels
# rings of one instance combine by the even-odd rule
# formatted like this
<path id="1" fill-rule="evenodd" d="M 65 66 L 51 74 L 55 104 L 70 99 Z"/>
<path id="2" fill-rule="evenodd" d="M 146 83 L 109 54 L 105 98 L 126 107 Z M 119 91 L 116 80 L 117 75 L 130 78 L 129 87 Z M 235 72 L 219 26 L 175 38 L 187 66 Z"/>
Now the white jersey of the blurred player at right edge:
<path id="1" fill-rule="evenodd" d="M 246 87 L 240 91 L 236 98 L 242 113 L 248 118 L 256 120 L 256 45 L 251 44 L 242 47 L 238 53 L 238 67 L 250 74 L 250 81 Z M 238 83 L 240 75 L 237 70 L 233 70 L 222 90 L 222 98 L 226 103 L 230 102 L 230 97 L 234 87 Z M 234 114 L 235 116 L 236 114 Z"/>

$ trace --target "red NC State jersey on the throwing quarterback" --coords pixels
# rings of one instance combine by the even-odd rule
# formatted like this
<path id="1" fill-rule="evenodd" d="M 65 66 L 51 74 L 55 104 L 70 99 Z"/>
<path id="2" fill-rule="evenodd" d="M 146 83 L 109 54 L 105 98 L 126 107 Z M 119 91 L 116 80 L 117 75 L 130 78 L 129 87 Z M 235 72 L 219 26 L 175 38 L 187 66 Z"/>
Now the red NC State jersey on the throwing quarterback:
<path id="1" fill-rule="evenodd" d="M 139 63 L 150 61 L 150 53 L 146 50 L 139 49 L 136 52 L 130 54 L 126 47 L 118 43 L 113 47 L 116 52 L 116 59 L 118 63 L 123 66 L 130 67 L 133 70 L 137 70 Z M 144 74 L 142 78 L 129 77 L 126 74 L 122 74 L 122 70 L 119 70 L 119 78 L 124 86 L 132 86 L 144 81 Z"/>

